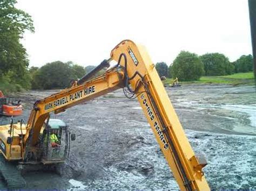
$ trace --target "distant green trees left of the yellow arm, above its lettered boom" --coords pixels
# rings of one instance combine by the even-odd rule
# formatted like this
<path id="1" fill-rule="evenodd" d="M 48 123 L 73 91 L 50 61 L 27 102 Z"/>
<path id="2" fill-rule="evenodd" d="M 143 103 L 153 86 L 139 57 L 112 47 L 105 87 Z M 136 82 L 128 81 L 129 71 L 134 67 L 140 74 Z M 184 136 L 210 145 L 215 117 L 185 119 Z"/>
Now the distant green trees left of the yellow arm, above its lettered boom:
<path id="1" fill-rule="evenodd" d="M 84 67 L 75 65 L 71 61 L 66 63 L 56 61 L 46 63 L 39 69 L 30 68 L 32 89 L 66 88 L 72 80 L 77 80 L 84 74 Z"/>

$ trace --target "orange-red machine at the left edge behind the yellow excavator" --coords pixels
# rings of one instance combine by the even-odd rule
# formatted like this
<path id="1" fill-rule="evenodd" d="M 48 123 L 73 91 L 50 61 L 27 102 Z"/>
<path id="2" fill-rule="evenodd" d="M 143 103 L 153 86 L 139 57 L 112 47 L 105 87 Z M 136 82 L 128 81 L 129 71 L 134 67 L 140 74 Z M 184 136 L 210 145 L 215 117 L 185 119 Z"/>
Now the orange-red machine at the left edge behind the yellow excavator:
<path id="1" fill-rule="evenodd" d="M 0 90 L 0 115 L 19 116 L 22 115 L 23 107 L 14 97 L 4 97 Z"/>

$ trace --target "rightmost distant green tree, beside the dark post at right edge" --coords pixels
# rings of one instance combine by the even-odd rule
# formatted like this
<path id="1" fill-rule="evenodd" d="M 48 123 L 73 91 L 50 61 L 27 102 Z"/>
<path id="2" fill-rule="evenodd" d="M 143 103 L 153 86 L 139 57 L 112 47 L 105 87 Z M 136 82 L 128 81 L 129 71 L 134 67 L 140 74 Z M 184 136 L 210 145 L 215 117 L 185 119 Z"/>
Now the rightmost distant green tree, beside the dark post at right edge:
<path id="1" fill-rule="evenodd" d="M 235 72 L 250 72 L 253 70 L 253 57 L 251 54 L 242 55 L 234 62 Z"/>

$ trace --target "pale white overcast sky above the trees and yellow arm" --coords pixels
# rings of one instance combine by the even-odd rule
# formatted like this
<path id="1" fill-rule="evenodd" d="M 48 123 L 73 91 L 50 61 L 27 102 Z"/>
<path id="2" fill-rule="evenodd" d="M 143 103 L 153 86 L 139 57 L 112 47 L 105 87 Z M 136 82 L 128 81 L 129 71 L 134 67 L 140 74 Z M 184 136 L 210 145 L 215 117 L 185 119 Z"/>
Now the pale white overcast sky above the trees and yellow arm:
<path id="1" fill-rule="evenodd" d="M 98 65 L 124 39 L 146 46 L 154 63 L 170 65 L 181 50 L 252 54 L 247 0 L 18 0 L 35 33 L 22 43 L 30 66 L 52 61 Z"/>

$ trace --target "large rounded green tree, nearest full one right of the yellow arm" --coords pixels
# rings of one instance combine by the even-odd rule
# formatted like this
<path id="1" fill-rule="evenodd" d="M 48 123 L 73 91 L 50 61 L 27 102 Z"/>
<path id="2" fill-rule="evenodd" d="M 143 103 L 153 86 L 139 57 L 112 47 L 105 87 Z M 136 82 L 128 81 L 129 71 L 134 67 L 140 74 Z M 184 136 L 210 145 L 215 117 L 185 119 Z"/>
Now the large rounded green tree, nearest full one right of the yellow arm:
<path id="1" fill-rule="evenodd" d="M 171 74 L 180 81 L 199 80 L 204 74 L 204 65 L 197 54 L 181 51 L 173 61 Z"/>

